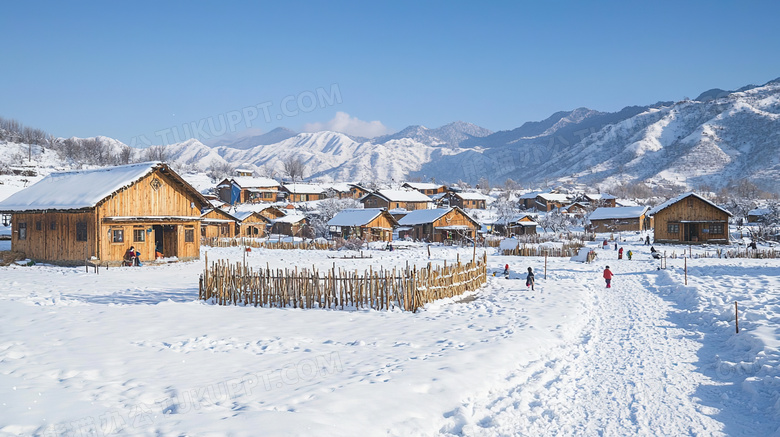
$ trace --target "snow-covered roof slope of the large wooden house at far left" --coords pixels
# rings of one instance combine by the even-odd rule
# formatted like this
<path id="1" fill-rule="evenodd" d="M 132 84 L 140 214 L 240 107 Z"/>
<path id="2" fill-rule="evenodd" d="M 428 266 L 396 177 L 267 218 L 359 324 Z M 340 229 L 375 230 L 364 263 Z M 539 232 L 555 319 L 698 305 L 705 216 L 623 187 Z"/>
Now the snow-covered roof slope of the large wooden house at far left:
<path id="1" fill-rule="evenodd" d="M 163 165 L 161 162 L 143 162 L 94 170 L 52 173 L 38 183 L 0 202 L 0 211 L 92 208 L 101 200 L 148 175 L 161 165 Z"/>

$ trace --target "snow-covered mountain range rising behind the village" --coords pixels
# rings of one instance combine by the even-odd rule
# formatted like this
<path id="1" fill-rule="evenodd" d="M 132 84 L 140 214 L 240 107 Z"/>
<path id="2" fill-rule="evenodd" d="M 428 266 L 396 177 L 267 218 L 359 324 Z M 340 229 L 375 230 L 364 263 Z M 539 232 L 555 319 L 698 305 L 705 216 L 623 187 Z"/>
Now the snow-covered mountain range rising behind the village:
<path id="1" fill-rule="evenodd" d="M 105 137 L 95 142 L 112 153 L 126 148 Z M 0 143 L 8 162 L 29 152 L 18 147 L 11 153 L 10 144 L 3 153 Z M 464 122 L 410 126 L 373 139 L 276 129 L 212 146 L 191 139 L 155 148 L 188 170 L 228 163 L 277 176 L 285 159 L 300 157 L 307 176 L 323 181 L 435 178 L 473 184 L 487 178 L 500 184 L 511 178 L 525 186 L 566 180 L 607 189 L 636 182 L 717 189 L 748 178 L 780 192 L 780 80 L 613 113 L 578 108 L 495 133 Z M 134 150 L 132 158 L 148 151 Z"/>

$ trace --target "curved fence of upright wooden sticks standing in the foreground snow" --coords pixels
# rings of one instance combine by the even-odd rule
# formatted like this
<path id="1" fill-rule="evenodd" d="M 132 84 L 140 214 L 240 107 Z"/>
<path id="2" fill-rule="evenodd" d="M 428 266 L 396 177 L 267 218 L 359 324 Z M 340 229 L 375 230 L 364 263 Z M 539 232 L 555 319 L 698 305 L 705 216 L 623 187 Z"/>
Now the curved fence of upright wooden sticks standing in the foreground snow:
<path id="1" fill-rule="evenodd" d="M 219 305 L 269 308 L 400 308 L 416 312 L 429 302 L 476 290 L 487 282 L 487 254 L 469 262 L 431 268 L 357 270 L 312 268 L 254 270 L 217 261 L 200 276 L 198 298 Z"/>

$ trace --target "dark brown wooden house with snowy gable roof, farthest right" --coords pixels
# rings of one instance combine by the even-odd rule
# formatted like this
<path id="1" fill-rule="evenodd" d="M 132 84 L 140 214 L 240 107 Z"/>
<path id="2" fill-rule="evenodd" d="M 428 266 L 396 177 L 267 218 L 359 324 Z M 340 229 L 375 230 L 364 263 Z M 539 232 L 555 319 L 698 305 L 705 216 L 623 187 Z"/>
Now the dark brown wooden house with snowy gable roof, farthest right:
<path id="1" fill-rule="evenodd" d="M 731 213 L 696 193 L 685 193 L 669 199 L 648 214 L 655 219 L 655 242 L 729 242 Z"/>

